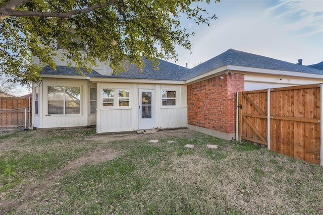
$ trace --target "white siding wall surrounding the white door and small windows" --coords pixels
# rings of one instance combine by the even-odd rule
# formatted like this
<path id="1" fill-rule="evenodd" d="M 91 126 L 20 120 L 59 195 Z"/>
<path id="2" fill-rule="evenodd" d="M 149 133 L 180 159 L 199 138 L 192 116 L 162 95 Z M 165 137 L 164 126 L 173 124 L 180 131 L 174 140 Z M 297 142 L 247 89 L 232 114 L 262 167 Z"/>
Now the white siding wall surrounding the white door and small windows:
<path id="1" fill-rule="evenodd" d="M 103 107 L 101 95 L 102 89 L 129 89 L 129 107 Z M 139 89 L 154 90 L 154 127 L 187 127 L 187 87 L 184 85 L 97 83 L 96 129 L 98 133 L 133 131 L 138 129 Z M 162 90 L 176 91 L 175 106 L 162 105 Z M 117 97 L 115 97 L 115 99 L 116 98 Z"/>

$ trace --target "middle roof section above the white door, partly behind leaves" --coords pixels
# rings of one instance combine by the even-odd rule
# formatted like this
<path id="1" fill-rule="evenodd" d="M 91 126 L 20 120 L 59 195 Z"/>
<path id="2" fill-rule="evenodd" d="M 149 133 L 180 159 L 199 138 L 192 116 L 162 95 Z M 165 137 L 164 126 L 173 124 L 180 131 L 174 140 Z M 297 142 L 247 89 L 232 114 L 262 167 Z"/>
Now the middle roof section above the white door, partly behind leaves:
<path id="1" fill-rule="evenodd" d="M 180 65 L 176 65 L 165 60 L 158 60 L 157 69 L 153 70 L 152 62 L 147 58 L 144 59 L 145 65 L 142 67 L 142 73 L 136 64 L 127 64 L 126 70 L 109 78 L 125 78 L 125 79 L 154 79 L 154 80 L 179 80 L 189 70 Z"/>

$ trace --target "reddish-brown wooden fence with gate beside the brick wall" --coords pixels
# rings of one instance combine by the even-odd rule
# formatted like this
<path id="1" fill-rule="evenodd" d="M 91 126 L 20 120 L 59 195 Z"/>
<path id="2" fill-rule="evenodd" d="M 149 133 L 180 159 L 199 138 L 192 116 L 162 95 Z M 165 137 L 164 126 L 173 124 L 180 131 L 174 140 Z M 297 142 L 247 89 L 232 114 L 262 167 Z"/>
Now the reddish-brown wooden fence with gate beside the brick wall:
<path id="1" fill-rule="evenodd" d="M 239 140 L 322 165 L 320 85 L 240 92 L 238 107 Z"/>

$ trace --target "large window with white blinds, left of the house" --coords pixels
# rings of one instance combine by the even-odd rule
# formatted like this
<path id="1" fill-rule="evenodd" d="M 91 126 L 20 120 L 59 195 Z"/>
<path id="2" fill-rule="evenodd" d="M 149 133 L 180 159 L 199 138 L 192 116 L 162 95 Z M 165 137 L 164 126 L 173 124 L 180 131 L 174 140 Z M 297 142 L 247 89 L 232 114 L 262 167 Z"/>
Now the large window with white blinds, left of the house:
<path id="1" fill-rule="evenodd" d="M 80 114 L 79 87 L 48 87 L 48 114 Z"/>

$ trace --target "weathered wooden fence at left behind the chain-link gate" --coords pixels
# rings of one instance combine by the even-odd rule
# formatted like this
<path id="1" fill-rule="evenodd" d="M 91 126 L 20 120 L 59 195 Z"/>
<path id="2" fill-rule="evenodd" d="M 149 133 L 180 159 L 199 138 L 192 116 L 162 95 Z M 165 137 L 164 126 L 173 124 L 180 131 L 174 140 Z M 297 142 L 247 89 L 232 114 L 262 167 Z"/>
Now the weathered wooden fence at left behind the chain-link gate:
<path id="1" fill-rule="evenodd" d="M 3 97 L 0 98 L 0 127 L 12 127 L 25 120 L 27 108 L 28 123 L 31 122 L 31 100 L 29 98 Z M 6 112 L 4 111 L 6 110 Z M 29 126 L 29 125 L 28 125 Z"/>

